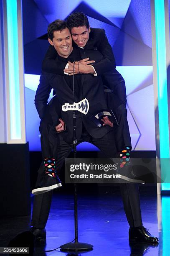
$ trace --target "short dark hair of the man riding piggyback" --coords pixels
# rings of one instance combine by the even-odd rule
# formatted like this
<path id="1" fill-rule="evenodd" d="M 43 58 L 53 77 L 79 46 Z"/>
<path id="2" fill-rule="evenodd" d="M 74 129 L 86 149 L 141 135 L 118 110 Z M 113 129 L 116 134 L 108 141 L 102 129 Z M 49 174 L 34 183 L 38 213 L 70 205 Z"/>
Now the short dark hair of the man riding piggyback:
<path id="1" fill-rule="evenodd" d="M 67 27 L 71 30 L 71 28 L 78 28 L 86 26 L 89 28 L 89 20 L 84 13 L 71 13 L 67 18 Z"/>

